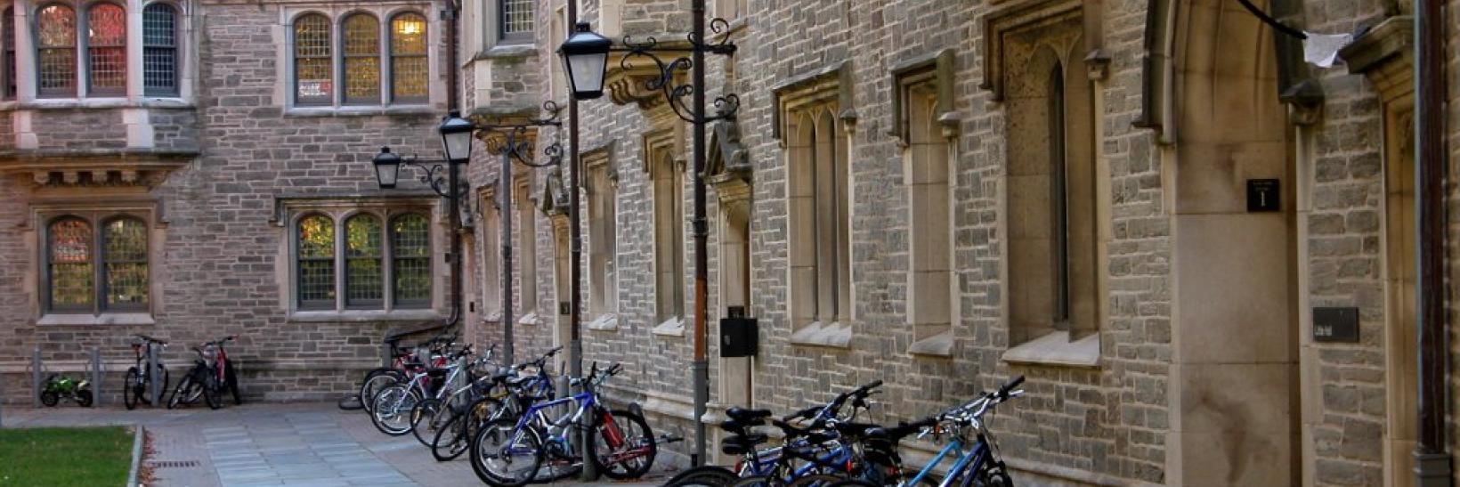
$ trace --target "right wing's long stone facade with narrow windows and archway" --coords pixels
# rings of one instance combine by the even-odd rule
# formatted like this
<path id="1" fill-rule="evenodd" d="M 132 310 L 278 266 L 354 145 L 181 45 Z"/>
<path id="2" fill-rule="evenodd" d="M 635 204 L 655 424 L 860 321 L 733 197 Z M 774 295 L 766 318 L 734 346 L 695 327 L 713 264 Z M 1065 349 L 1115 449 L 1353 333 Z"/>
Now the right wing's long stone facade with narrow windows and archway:
<path id="1" fill-rule="evenodd" d="M 711 57 L 708 95 L 743 106 L 711 128 L 707 318 L 717 337 L 746 309 L 761 350 L 720 359 L 710 340 L 711 418 L 885 379 L 875 416 L 891 421 L 1025 375 L 1029 394 L 994 420 L 1021 480 L 1413 481 L 1407 3 L 1257 1 L 1305 31 L 1361 32 L 1332 69 L 1235 1 L 710 3 L 739 51 Z M 524 9 L 467 4 L 486 25 Z M 469 47 L 483 117 L 566 99 L 565 3 L 531 7 L 531 41 Z M 613 39 L 691 25 L 689 1 L 580 7 Z M 1445 12 L 1453 80 L 1460 12 Z M 692 252 L 689 127 L 642 61 L 610 58 L 609 93 L 580 105 L 583 341 L 587 360 L 628 363 L 616 395 L 688 435 L 694 270 L 673 260 Z M 1453 102 L 1445 118 L 1453 155 Z M 514 242 L 536 245 L 540 296 L 518 350 L 569 337 L 559 178 L 524 185 L 542 213 Z M 1332 313 L 1356 334 L 1334 337 Z M 472 325 L 501 337 L 491 315 Z"/>

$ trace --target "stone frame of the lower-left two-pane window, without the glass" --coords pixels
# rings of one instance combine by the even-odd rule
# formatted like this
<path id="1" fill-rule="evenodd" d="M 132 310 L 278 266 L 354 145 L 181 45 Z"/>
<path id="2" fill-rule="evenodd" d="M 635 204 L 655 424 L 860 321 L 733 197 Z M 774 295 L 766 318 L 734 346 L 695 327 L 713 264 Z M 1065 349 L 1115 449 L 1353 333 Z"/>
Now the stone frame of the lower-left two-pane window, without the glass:
<path id="1" fill-rule="evenodd" d="M 146 277 L 146 283 L 145 283 L 145 286 L 147 289 L 147 299 L 143 303 L 140 303 L 140 305 L 108 305 L 107 303 L 107 290 L 108 289 L 107 289 L 107 281 L 105 281 L 105 278 L 107 278 L 105 265 L 107 265 L 108 261 L 105 260 L 105 244 L 107 244 L 107 239 L 105 239 L 105 225 L 111 223 L 111 222 L 115 222 L 115 220 L 121 220 L 121 219 L 130 219 L 130 220 L 136 220 L 136 222 L 142 223 L 145 235 L 146 235 L 146 252 L 145 252 L 146 260 L 143 260 L 142 262 L 145 262 L 147 265 L 147 277 Z M 134 313 L 134 312 L 150 313 L 152 306 L 156 302 L 156 296 L 153 293 L 153 283 L 152 283 L 152 277 L 156 273 L 153 271 L 155 270 L 155 260 L 153 260 L 155 255 L 153 255 L 153 246 L 152 246 L 153 245 L 153 239 L 152 239 L 152 227 L 153 226 L 152 226 L 152 216 L 147 211 L 128 210 L 128 209 L 117 209 L 117 210 L 110 210 L 110 209 L 108 210 L 66 210 L 66 209 L 57 209 L 57 210 L 45 210 L 45 211 L 38 213 L 36 214 L 36 220 L 39 223 L 38 225 L 38 236 L 39 238 L 36 239 L 36 242 L 38 242 L 36 251 L 38 251 L 38 262 L 39 262 L 39 273 L 38 273 L 38 280 L 39 280 L 38 289 L 39 290 L 38 290 L 36 295 L 38 295 L 38 302 L 39 302 L 39 313 L 42 316 L 44 315 L 89 315 L 89 316 L 99 316 L 99 315 L 107 315 L 107 313 Z M 53 244 L 51 242 L 51 233 L 53 233 L 51 232 L 51 226 L 55 225 L 57 222 L 61 222 L 61 220 L 79 220 L 79 222 L 86 223 L 91 227 L 91 239 L 89 239 L 89 248 L 88 248 L 88 262 L 92 265 L 92 268 L 91 268 L 91 276 L 92 276 L 92 289 L 91 289 L 91 295 L 92 296 L 91 296 L 91 299 L 92 300 L 91 300 L 89 305 L 57 308 L 54 305 L 54 302 L 53 302 L 53 299 L 54 299 L 54 296 L 53 296 L 53 293 L 54 293 L 53 286 L 55 283 L 55 276 L 53 276 L 53 273 L 51 273 L 51 249 L 53 249 L 53 245 L 51 245 Z M 130 261 L 130 262 L 136 262 L 136 261 Z"/>

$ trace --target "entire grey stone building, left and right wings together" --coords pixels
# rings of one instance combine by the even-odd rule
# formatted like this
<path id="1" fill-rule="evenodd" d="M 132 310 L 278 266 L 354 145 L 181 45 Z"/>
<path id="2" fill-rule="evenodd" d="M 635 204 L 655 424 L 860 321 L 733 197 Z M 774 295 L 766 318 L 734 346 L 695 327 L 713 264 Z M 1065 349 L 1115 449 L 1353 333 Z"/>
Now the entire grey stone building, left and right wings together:
<path id="1" fill-rule="evenodd" d="M 734 93 L 742 108 L 711 128 L 707 318 L 711 337 L 731 308 L 759 322 L 753 359 L 721 359 L 710 341 L 711 418 L 736 404 L 800 408 L 883 379 L 873 420 L 905 420 L 1025 375 L 1028 395 L 993 418 L 1023 483 L 1410 484 L 1406 1 L 1256 1 L 1307 31 L 1362 31 L 1332 69 L 1304 64 L 1296 41 L 1225 0 L 710 3 L 727 19 L 717 39 L 739 51 L 710 60 L 708 95 Z M 375 190 L 374 150 L 435 155 L 432 127 L 457 67 L 461 108 L 477 121 L 566 105 L 555 55 L 569 28 L 564 0 L 463 1 L 456 63 L 442 4 L 169 4 L 172 96 L 149 95 L 143 77 L 127 77 L 121 95 L 101 86 L 89 96 L 89 74 L 76 74 L 85 96 L 55 95 L 39 82 L 39 36 L 12 44 L 19 82 L 0 105 L 13 136 L 0 137 L 0 375 L 10 401 L 26 394 L 32 348 L 66 370 L 101 347 L 115 372 L 130 332 L 178 343 L 241 334 L 245 395 L 347 391 L 387 332 L 450 315 L 441 204 L 420 185 Z M 29 32 L 48 6 L 16 1 L 9 19 Z M 146 3 L 120 6 L 130 19 L 126 73 L 146 73 L 147 54 L 166 45 L 143 39 Z M 358 34 L 346 28 L 356 9 L 378 19 L 378 50 L 343 41 Z M 364 92 L 345 83 L 346 71 L 378 63 L 375 79 L 391 86 L 388 39 L 402 9 L 425 22 L 426 96 L 371 92 L 369 76 Z M 333 50 L 295 55 L 310 13 L 333 35 L 314 45 Z M 1445 15 L 1453 165 L 1460 3 Z M 615 39 L 677 41 L 691 25 L 686 0 L 585 0 L 580 16 Z M 51 42 L 45 52 L 69 45 L 92 48 Z M 583 341 L 587 360 L 625 363 L 613 398 L 688 436 L 691 134 L 645 87 L 654 71 L 644 61 L 610 60 L 609 93 L 580 105 L 571 150 L 585 182 Z M 323 87 L 321 76 L 343 87 Z M 371 93 L 380 102 L 355 105 Z M 531 136 L 537 149 L 565 137 Z M 498 163 L 479 150 L 469 169 L 463 324 L 479 344 L 499 341 L 496 249 L 514 242 L 512 324 L 526 357 L 569 337 L 569 185 L 561 169 L 526 166 L 499 181 Z M 505 184 L 510 207 L 496 198 Z M 1253 209 L 1250 184 L 1269 190 Z M 1275 211 L 1254 211 L 1264 197 Z M 302 238 L 305 227 L 318 235 L 314 222 L 343 236 L 349 222 L 368 220 L 350 220 L 361 213 L 381 226 L 365 232 L 380 238 L 364 238 L 374 251 Z M 396 268 L 419 268 L 419 257 L 391 254 L 397 213 L 431 222 L 429 299 L 402 300 L 409 306 L 396 306 L 397 295 L 422 287 L 397 289 Z M 95 293 L 111 276 L 101 268 L 111 239 L 77 246 L 51 236 L 67 229 L 53 230 L 57 222 L 110 229 L 115 216 L 145 225 L 149 274 L 145 306 L 111 312 L 105 303 L 126 299 Z M 499 235 L 501 219 L 512 219 L 512 235 Z M 1454 254 L 1460 220 L 1447 222 Z M 96 265 L 93 297 L 66 302 L 92 303 L 86 312 L 53 306 L 51 276 L 66 271 L 53 255 L 92 255 L 60 262 Z M 333 262 L 333 286 L 302 286 L 301 271 L 320 262 Z M 374 276 L 352 265 L 380 270 L 381 290 L 350 293 L 350 276 Z M 1447 306 L 1454 319 L 1453 299 Z M 1353 340 L 1327 332 L 1330 312 L 1356 316 Z M 169 354 L 175 366 L 184 357 Z"/>

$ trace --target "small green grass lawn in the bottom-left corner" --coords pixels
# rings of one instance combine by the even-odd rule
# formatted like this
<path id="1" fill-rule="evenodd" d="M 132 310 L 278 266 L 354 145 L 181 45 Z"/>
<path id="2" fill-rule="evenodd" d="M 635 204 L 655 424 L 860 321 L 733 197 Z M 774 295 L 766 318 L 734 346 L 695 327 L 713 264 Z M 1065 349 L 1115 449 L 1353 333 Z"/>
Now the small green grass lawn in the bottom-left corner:
<path id="1" fill-rule="evenodd" d="M 0 486 L 126 486 L 131 439 L 121 426 L 0 430 Z"/>

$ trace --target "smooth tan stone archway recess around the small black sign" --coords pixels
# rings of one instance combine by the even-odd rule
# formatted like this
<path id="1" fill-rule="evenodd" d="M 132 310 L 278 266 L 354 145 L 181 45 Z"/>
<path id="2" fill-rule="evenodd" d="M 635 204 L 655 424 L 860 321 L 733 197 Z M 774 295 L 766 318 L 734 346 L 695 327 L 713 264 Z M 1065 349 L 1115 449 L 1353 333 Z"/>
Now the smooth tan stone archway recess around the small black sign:
<path id="1" fill-rule="evenodd" d="M 1251 213 L 1245 197 L 1251 179 L 1295 185 L 1273 34 L 1235 1 L 1177 4 L 1167 472 L 1174 486 L 1298 484 L 1294 206 Z"/>

